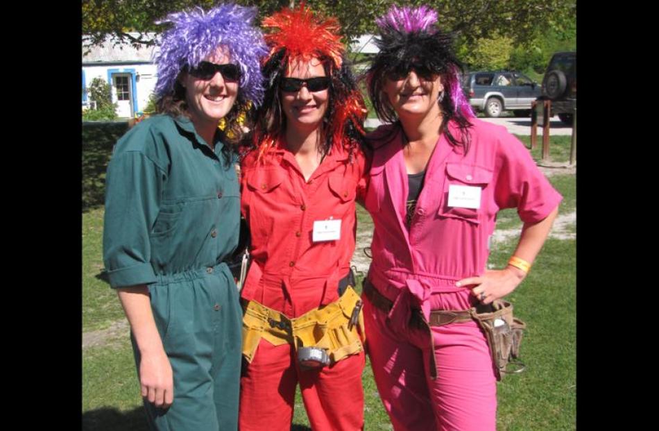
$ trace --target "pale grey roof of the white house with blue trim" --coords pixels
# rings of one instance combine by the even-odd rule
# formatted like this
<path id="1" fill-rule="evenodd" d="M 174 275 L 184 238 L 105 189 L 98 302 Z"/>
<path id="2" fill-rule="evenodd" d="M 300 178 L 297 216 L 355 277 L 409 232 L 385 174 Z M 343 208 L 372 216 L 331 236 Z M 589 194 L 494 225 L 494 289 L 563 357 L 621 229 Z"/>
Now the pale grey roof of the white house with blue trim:
<path id="1" fill-rule="evenodd" d="M 139 33 L 128 33 L 138 37 Z M 148 33 L 146 40 L 155 39 L 155 33 Z M 89 45 L 83 36 L 83 65 L 103 63 L 151 63 L 153 52 L 157 47 L 133 47 L 128 40 L 115 45 L 111 36 L 102 44 Z M 87 52 L 88 51 L 88 52 Z"/>

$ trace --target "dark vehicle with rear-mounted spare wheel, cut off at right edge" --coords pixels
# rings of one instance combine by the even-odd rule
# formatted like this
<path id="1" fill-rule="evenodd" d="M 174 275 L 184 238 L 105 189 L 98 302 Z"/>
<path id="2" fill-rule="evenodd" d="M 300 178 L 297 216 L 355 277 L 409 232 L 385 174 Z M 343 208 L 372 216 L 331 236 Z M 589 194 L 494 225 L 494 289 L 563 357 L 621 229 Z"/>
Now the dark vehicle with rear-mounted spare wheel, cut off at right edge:
<path id="1" fill-rule="evenodd" d="M 542 97 L 551 100 L 551 115 L 572 125 L 576 108 L 576 52 L 557 52 L 551 56 L 542 79 Z"/>

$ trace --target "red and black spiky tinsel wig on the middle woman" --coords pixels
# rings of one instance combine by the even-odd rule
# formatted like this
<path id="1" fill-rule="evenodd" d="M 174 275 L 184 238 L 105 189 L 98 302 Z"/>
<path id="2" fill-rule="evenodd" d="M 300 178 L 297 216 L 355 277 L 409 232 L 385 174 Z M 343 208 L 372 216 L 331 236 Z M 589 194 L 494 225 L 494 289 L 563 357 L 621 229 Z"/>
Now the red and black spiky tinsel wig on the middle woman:
<path id="1" fill-rule="evenodd" d="M 325 113 L 322 150 L 333 147 L 350 153 L 364 145 L 363 121 L 366 105 L 345 59 L 341 43 L 341 26 L 335 18 L 321 18 L 302 3 L 299 8 L 284 8 L 263 20 L 262 27 L 270 53 L 264 58 L 262 71 L 266 78 L 266 95 L 257 111 L 252 148 L 259 148 L 259 158 L 270 149 L 285 127 L 279 84 L 291 61 L 318 58 L 330 76 L 330 103 Z"/>

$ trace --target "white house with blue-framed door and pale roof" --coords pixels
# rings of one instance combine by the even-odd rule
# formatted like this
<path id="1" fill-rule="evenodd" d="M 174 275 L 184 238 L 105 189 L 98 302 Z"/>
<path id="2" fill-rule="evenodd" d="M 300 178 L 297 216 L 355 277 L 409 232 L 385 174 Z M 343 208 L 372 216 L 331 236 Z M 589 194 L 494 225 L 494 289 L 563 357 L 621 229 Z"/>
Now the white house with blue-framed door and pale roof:
<path id="1" fill-rule="evenodd" d="M 129 42 L 115 47 L 109 38 L 103 44 L 88 47 L 83 37 L 83 89 L 89 87 L 92 79 L 100 77 L 112 87 L 117 116 L 133 117 L 135 112 L 146 108 L 155 87 L 157 70 L 151 61 L 155 49 L 135 48 Z M 83 105 L 89 102 L 89 94 L 83 91 Z"/>

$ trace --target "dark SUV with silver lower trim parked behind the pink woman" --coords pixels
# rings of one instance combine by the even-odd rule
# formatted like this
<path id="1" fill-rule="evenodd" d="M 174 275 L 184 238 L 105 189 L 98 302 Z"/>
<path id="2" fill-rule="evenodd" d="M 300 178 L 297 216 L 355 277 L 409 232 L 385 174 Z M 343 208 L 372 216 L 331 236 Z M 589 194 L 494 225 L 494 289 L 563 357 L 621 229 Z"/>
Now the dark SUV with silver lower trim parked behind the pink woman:
<path id="1" fill-rule="evenodd" d="M 479 71 L 463 76 L 462 87 L 470 105 L 488 117 L 512 110 L 516 117 L 529 117 L 531 103 L 540 96 L 540 86 L 515 71 Z"/>

